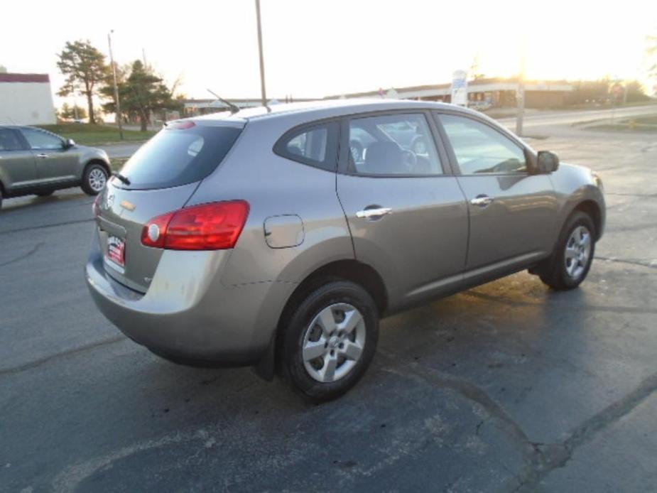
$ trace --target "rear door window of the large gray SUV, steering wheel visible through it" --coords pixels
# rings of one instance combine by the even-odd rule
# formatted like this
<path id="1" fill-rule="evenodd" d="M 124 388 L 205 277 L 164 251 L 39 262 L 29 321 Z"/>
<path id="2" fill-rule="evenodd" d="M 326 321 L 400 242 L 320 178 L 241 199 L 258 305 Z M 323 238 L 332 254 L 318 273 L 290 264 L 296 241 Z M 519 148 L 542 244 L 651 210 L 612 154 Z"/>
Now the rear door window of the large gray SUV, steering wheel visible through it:
<path id="1" fill-rule="evenodd" d="M 440 175 L 442 166 L 423 114 L 349 121 L 349 168 L 363 175 Z"/>

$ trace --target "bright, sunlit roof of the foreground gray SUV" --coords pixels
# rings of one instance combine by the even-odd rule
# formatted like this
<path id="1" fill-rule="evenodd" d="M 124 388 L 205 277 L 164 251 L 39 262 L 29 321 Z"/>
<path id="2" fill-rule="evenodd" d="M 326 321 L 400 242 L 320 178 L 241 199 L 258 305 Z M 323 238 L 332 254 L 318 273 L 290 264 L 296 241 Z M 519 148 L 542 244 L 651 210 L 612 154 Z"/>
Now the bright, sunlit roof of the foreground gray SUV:
<path id="1" fill-rule="evenodd" d="M 195 119 L 203 120 L 239 120 L 276 118 L 287 114 L 306 114 L 308 117 L 321 118 L 337 114 L 353 114 L 361 112 L 381 111 L 386 109 L 460 109 L 463 112 L 472 112 L 454 104 L 431 101 L 409 101 L 408 99 L 320 99 L 317 101 L 273 104 L 270 107 L 255 107 L 241 109 L 239 112 L 229 114 L 220 112 L 203 115 Z"/>

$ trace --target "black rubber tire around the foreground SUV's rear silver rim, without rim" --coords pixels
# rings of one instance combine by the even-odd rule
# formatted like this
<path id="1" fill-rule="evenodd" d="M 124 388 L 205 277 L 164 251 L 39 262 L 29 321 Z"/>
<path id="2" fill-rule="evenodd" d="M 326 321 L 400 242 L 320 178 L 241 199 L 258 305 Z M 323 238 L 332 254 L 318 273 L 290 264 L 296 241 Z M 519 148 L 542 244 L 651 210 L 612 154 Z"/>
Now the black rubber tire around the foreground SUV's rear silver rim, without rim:
<path id="1" fill-rule="evenodd" d="M 311 376 L 303 361 L 305 337 L 307 333 L 310 334 L 310 331 L 317 330 L 317 327 L 319 327 L 319 325 L 315 325 L 313 328 L 310 327 L 310 324 L 322 310 L 332 305 L 340 306 L 340 304 L 351 305 L 362 315 L 364 327 L 359 325 L 358 329 L 360 334 L 364 334 L 362 352 L 354 362 L 347 362 L 347 359 L 344 359 L 342 364 L 339 363 L 340 356 L 336 355 L 338 366 L 335 370 L 335 376 L 340 371 L 346 371 L 346 374 L 338 377 L 335 381 L 318 381 Z M 337 316 L 340 315 L 339 311 L 336 311 L 336 313 Z M 351 389 L 361 379 L 372 358 L 374 358 L 376 342 L 379 338 L 379 313 L 374 300 L 364 288 L 350 281 L 328 281 L 324 286 L 310 291 L 301 300 L 297 308 L 293 309 L 288 321 L 283 322 L 282 325 L 278 329 L 281 331 L 281 344 L 278 346 L 280 350 L 279 371 L 283 378 L 290 381 L 297 391 L 315 402 L 335 399 Z M 319 330 L 321 331 L 321 327 Z M 357 329 L 352 330 L 354 338 L 357 337 L 356 332 Z M 322 332 L 322 337 L 324 337 L 323 334 Z M 337 337 L 338 335 L 335 335 L 336 339 Z M 331 340 L 333 339 L 334 337 L 331 337 Z M 334 351 L 330 349 L 328 342 L 326 344 L 325 347 L 328 347 L 327 352 L 333 354 Z M 335 342 L 332 347 L 335 347 L 336 354 L 340 351 L 335 346 Z M 340 343 L 340 348 L 342 347 L 342 343 Z M 328 357 L 328 354 L 326 357 Z M 320 357 L 320 359 L 322 359 L 323 365 L 327 365 L 326 359 L 323 359 L 323 357 Z M 344 370 L 342 365 L 346 363 L 349 363 L 351 367 Z"/>

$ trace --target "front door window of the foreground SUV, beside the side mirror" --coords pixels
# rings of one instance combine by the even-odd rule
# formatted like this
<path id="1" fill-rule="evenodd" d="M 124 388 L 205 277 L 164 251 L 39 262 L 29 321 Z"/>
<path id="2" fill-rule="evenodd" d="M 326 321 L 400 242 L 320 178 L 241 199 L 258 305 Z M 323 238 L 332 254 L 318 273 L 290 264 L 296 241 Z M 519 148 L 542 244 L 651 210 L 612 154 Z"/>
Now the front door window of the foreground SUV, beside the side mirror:
<path id="1" fill-rule="evenodd" d="M 499 131 L 451 114 L 441 114 L 440 122 L 464 175 L 526 172 L 523 149 Z"/>

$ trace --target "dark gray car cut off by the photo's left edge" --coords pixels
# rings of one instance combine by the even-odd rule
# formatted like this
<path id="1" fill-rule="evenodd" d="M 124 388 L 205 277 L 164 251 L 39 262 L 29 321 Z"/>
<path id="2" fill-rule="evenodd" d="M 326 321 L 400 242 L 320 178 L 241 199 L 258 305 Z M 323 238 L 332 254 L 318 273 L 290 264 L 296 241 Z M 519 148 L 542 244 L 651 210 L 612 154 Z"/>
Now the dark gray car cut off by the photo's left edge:
<path id="1" fill-rule="evenodd" d="M 97 195 L 110 169 L 102 149 L 33 126 L 0 126 L 0 207 L 3 197 L 45 196 L 75 186 Z"/>

